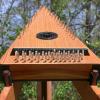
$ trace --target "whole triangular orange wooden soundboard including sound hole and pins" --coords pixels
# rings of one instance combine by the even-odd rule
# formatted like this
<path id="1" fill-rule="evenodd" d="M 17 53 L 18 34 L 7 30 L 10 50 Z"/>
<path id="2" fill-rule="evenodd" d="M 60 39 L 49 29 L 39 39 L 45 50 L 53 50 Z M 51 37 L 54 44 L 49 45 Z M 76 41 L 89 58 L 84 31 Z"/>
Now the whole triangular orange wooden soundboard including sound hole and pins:
<path id="1" fill-rule="evenodd" d="M 98 63 L 98 58 L 59 18 L 41 7 L 13 42 L 1 64 Z"/>

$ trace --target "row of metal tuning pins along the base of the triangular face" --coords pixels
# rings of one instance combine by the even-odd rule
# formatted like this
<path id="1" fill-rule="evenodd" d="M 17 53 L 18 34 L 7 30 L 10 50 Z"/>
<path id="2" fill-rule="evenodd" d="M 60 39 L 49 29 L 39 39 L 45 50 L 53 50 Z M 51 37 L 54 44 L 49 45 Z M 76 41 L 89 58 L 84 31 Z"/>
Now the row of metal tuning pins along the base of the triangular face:
<path id="1" fill-rule="evenodd" d="M 21 61 L 22 63 L 28 61 L 30 63 L 35 62 L 43 62 L 43 63 L 56 63 L 56 62 L 80 62 L 83 60 L 84 56 L 84 51 L 80 53 L 79 50 L 77 52 L 72 52 L 70 51 L 65 51 L 63 50 L 62 52 L 59 50 L 56 52 L 54 49 L 52 52 L 48 51 L 42 51 L 42 53 L 35 51 L 29 51 L 29 55 L 27 56 L 27 53 L 25 51 L 22 51 L 22 55 L 19 55 L 18 51 L 15 51 L 15 62 Z"/>

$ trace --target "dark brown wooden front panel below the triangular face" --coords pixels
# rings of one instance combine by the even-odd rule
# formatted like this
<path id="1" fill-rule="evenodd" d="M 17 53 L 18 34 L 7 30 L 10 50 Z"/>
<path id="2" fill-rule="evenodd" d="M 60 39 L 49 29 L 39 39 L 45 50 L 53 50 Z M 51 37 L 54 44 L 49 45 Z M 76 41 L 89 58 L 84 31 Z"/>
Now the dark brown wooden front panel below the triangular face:
<path id="1" fill-rule="evenodd" d="M 88 79 L 91 65 L 34 64 L 10 66 L 13 80 Z"/>

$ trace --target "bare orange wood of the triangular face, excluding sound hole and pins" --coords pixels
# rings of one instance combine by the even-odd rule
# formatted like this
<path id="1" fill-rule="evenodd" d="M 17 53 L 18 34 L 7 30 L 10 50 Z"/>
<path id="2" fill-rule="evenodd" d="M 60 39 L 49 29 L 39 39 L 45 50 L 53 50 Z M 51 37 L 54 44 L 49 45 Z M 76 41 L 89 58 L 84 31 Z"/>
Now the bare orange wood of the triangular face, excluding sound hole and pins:
<path id="1" fill-rule="evenodd" d="M 58 34 L 58 38 L 53 40 L 38 39 L 36 35 L 39 32 L 54 32 Z M 40 8 L 32 17 L 30 22 L 24 27 L 23 31 L 0 59 L 0 64 L 16 64 L 14 62 L 14 56 L 10 55 L 13 48 L 86 48 L 88 49 L 89 56 L 85 56 L 81 62 L 77 63 L 100 64 L 100 60 L 96 55 L 73 34 L 68 26 L 64 25 L 46 7 Z M 21 64 L 21 61 L 17 64 Z M 25 62 L 25 64 L 29 63 Z M 35 63 L 33 62 L 32 64 Z"/>

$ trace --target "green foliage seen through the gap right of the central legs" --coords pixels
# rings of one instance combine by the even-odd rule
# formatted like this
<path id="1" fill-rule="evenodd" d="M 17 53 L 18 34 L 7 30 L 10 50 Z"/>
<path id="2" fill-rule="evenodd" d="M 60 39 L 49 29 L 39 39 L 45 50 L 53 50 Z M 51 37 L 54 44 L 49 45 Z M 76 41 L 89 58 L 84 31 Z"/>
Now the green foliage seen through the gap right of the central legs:
<path id="1" fill-rule="evenodd" d="M 57 81 L 53 84 L 53 100 L 81 100 L 71 81 Z"/>

